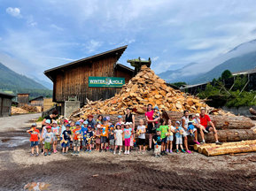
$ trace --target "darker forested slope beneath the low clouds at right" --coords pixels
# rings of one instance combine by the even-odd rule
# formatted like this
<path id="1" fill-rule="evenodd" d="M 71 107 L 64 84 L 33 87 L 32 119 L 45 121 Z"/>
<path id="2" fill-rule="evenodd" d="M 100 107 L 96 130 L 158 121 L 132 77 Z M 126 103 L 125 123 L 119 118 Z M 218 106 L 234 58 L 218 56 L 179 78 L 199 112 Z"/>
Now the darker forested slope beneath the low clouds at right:
<path id="1" fill-rule="evenodd" d="M 213 78 L 219 78 L 221 73 L 225 70 L 229 70 L 231 73 L 246 71 L 256 67 L 256 51 L 245 54 L 241 57 L 233 57 L 221 65 L 217 65 L 209 72 L 198 76 L 194 80 L 191 80 L 190 84 L 197 84 L 206 81 L 211 81 Z"/>

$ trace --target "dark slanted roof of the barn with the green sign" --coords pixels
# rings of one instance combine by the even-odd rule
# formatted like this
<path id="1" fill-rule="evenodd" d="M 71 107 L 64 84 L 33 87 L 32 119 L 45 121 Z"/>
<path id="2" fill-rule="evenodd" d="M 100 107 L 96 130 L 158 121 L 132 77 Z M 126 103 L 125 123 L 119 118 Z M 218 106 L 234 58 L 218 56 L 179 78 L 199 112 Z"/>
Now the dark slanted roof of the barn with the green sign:
<path id="1" fill-rule="evenodd" d="M 118 56 L 118 59 L 119 59 L 120 56 L 122 55 L 122 53 L 124 52 L 124 50 L 127 49 L 127 47 L 128 47 L 128 45 L 125 45 L 125 46 L 119 47 L 119 48 L 114 49 L 114 50 L 108 50 L 108 51 L 99 53 L 99 54 L 97 54 L 97 55 L 91 56 L 91 57 L 85 57 L 85 58 L 76 60 L 76 61 L 71 62 L 71 63 L 68 63 L 68 64 L 66 64 L 66 65 L 59 65 L 59 66 L 57 66 L 57 67 L 54 67 L 54 68 L 51 68 L 51 69 L 49 69 L 49 70 L 44 71 L 44 74 L 45 74 L 48 78 L 50 78 L 50 73 L 51 73 L 51 72 L 57 71 L 57 70 L 59 70 L 59 69 L 64 69 L 64 68 L 66 68 L 66 67 L 68 67 L 68 66 L 71 66 L 71 65 L 79 65 L 79 64 L 81 64 L 81 62 L 89 61 L 89 60 L 92 60 L 92 59 L 95 59 L 95 58 L 98 58 L 98 57 L 104 57 L 104 56 L 106 56 L 106 55 L 109 55 L 109 54 L 112 54 L 112 53 L 117 53 L 117 52 L 120 51 L 120 54 L 117 55 L 117 56 Z M 52 79 L 50 78 L 50 80 L 52 80 Z"/>

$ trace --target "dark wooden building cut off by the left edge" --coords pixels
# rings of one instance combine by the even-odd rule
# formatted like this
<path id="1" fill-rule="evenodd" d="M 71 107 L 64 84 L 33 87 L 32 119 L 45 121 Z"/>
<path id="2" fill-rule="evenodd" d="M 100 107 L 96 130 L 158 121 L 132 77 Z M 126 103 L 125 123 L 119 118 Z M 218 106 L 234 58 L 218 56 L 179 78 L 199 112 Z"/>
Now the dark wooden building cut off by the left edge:
<path id="1" fill-rule="evenodd" d="M 11 116 L 13 97 L 15 95 L 0 92 L 0 117 Z"/>

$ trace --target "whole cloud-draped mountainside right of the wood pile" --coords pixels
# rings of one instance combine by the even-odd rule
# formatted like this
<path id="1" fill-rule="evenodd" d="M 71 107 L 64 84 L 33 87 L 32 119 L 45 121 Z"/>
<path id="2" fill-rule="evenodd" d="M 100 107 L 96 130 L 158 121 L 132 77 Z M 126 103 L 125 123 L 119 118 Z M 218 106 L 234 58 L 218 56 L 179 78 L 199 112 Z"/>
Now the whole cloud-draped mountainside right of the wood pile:
<path id="1" fill-rule="evenodd" d="M 213 68 L 215 68 L 216 66 L 221 65 L 224 62 L 226 62 L 232 58 L 243 57 L 245 55 L 249 56 L 250 53 L 253 53 L 253 52 L 256 52 L 256 40 L 241 43 L 234 49 L 229 50 L 227 53 L 221 54 L 218 57 L 213 57 L 210 60 L 206 60 L 206 61 L 200 62 L 200 63 L 193 63 L 193 64 L 185 65 L 184 67 L 174 70 L 174 71 L 170 70 L 170 71 L 166 71 L 164 73 L 159 73 L 159 77 L 161 77 L 164 80 L 167 80 L 167 82 L 171 82 L 171 83 L 177 82 L 177 81 L 185 81 L 188 84 L 206 82 L 207 80 L 209 80 L 211 78 L 208 78 L 208 76 L 206 76 L 205 74 L 208 73 L 209 71 L 213 70 Z M 241 61 L 241 59 L 240 59 L 240 61 Z M 249 67 L 249 65 L 250 64 L 248 63 L 248 67 Z M 232 71 L 232 67 L 235 67 L 235 66 L 232 65 L 231 68 L 229 68 L 230 71 Z M 248 67 L 241 65 L 241 67 L 237 66 L 236 70 L 238 70 L 238 71 L 246 70 L 245 68 L 248 68 Z M 201 76 L 204 76 L 204 77 L 201 77 Z M 204 79 L 204 78 L 206 78 L 206 79 Z"/>

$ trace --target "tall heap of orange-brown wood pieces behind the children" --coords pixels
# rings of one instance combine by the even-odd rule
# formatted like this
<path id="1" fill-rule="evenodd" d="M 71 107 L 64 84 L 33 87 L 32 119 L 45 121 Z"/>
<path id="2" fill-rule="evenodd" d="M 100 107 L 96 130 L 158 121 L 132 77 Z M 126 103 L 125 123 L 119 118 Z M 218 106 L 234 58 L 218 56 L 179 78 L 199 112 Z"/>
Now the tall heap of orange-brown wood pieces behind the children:
<path id="1" fill-rule="evenodd" d="M 123 115 L 126 108 L 131 107 L 133 112 L 142 114 L 147 104 L 158 106 L 160 111 L 184 111 L 197 113 L 202 107 L 213 111 L 204 100 L 193 95 L 187 95 L 180 90 L 168 87 L 165 80 L 159 78 L 151 68 L 143 65 L 141 72 L 129 80 L 121 88 L 120 93 L 105 101 L 91 102 L 78 111 L 74 111 L 70 118 L 87 118 L 89 114 Z M 215 115 L 224 115 L 225 112 L 215 110 Z"/>

